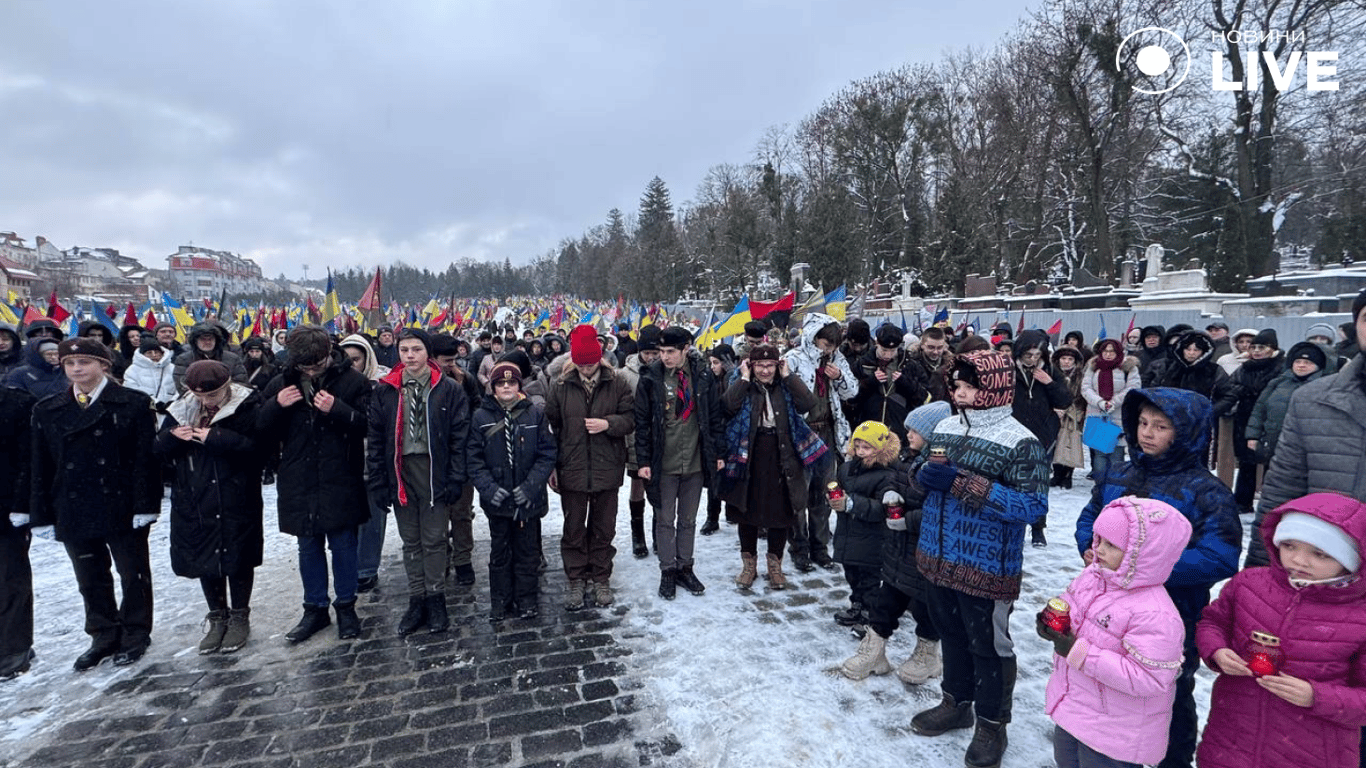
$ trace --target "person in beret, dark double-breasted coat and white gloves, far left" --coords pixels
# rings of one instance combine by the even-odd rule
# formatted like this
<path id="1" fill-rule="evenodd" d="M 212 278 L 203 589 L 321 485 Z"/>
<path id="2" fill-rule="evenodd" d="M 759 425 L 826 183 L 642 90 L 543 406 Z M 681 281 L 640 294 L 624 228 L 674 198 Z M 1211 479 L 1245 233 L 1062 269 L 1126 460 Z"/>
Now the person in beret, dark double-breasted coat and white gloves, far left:
<path id="1" fill-rule="evenodd" d="M 33 410 L 31 523 L 67 548 L 85 601 L 90 648 L 75 670 L 113 656 L 124 667 L 152 645 L 149 526 L 161 514 L 152 399 L 109 377 L 109 348 L 72 338 L 57 347 L 70 387 Z M 115 601 L 119 570 L 123 600 Z"/>

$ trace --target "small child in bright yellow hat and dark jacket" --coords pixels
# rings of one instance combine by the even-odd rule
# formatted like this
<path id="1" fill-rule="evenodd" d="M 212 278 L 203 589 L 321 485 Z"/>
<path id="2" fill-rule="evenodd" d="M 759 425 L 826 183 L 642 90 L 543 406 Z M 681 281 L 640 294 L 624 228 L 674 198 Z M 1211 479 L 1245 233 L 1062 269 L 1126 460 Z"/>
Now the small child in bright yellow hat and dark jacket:
<path id="1" fill-rule="evenodd" d="M 902 441 L 880 421 L 865 421 L 850 437 L 848 461 L 840 465 L 843 497 L 831 499 L 836 512 L 835 562 L 844 566 L 850 607 L 835 614 L 844 626 L 867 623 L 867 596 L 882 567 L 887 510 L 882 495 L 892 489 Z"/>

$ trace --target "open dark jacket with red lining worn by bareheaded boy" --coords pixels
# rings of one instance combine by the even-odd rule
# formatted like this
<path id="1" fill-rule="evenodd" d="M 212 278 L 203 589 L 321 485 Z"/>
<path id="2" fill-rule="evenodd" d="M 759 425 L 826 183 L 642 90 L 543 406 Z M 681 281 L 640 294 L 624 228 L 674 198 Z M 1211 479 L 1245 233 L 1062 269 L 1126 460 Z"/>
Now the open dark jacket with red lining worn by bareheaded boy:
<path id="1" fill-rule="evenodd" d="M 428 364 L 428 374 L 430 388 L 426 399 L 426 436 L 428 454 L 432 456 L 429 492 L 433 504 L 454 504 L 460 500 L 467 480 L 464 443 L 470 433 L 470 402 L 464 396 L 464 388 L 443 374 L 434 362 Z M 367 417 L 366 485 L 374 506 L 384 508 L 402 506 L 399 456 L 393 432 L 399 425 L 402 388 L 403 366 L 399 366 L 374 384 Z"/>

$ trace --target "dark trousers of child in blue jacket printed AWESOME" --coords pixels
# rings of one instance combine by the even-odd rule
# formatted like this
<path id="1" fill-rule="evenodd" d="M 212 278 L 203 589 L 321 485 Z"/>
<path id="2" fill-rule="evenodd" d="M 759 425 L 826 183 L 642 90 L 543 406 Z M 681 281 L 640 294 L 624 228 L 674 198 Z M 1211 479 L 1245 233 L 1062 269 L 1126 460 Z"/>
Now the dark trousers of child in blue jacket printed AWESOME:
<path id="1" fill-rule="evenodd" d="M 1014 603 L 934 584 L 926 589 L 930 616 L 944 638 L 944 693 L 953 701 L 971 701 L 978 717 L 1008 723 L 1015 698 Z"/>

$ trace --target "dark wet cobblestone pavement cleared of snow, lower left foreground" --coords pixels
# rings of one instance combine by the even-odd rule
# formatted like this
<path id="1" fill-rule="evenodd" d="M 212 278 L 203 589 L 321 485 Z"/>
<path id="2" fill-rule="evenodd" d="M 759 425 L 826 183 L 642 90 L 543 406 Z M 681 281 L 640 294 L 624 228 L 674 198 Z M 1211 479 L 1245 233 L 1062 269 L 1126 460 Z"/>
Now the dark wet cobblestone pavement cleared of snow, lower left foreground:
<path id="1" fill-rule="evenodd" d="M 395 634 L 407 601 L 403 568 L 387 555 L 380 589 L 361 596 L 361 640 L 339 642 L 329 627 L 288 646 L 268 634 L 288 623 L 266 627 L 257 614 L 251 642 L 234 655 L 198 656 L 190 637 L 157 637 L 187 650 L 149 653 L 117 672 L 79 719 L 25 739 L 23 753 L 0 756 L 0 765 L 686 765 L 679 741 L 660 732 L 638 696 L 643 671 L 616 637 L 628 605 L 564 611 L 559 540 L 548 537 L 545 552 L 538 619 L 488 623 L 479 543 L 479 584 L 448 592 L 444 634 Z M 179 634 L 198 640 L 189 626 Z"/>

